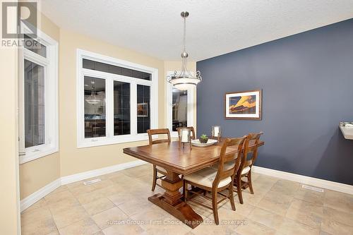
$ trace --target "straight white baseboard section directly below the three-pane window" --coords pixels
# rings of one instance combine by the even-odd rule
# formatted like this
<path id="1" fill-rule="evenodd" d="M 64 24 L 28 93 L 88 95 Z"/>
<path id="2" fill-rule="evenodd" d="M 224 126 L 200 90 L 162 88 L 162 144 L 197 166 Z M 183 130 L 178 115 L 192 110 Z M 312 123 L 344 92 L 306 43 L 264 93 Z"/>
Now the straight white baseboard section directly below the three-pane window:
<path id="1" fill-rule="evenodd" d="M 92 177 L 102 176 L 103 174 L 109 174 L 115 171 L 121 171 L 132 167 L 138 167 L 140 165 L 147 164 L 147 163 L 148 162 L 145 162 L 143 160 L 137 160 L 133 162 L 116 164 L 111 167 L 104 167 L 100 169 L 94 169 L 92 171 L 85 171 L 78 174 L 71 174 L 70 176 L 63 176 L 61 177 L 61 185 L 73 183 L 76 181 L 82 181 L 83 179 L 90 179 Z"/>

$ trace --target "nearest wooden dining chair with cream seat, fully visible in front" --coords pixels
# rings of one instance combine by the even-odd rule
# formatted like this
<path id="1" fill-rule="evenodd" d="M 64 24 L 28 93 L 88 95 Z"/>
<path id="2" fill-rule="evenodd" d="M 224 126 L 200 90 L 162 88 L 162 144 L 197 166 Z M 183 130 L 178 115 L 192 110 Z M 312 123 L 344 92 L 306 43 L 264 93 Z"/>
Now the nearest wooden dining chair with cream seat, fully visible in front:
<path id="1" fill-rule="evenodd" d="M 223 200 L 229 198 L 232 210 L 236 210 L 233 195 L 233 181 L 240 166 L 241 150 L 245 138 L 246 136 L 242 138 L 227 138 L 225 140 L 220 150 L 218 169 L 208 167 L 184 176 L 184 202 L 186 203 L 188 200 L 188 193 L 193 193 L 206 200 L 212 201 L 212 207 L 210 207 L 198 200 L 194 200 L 193 198 L 190 199 L 193 203 L 213 210 L 213 217 L 215 217 L 216 224 L 219 224 L 217 205 Z M 228 147 L 232 147 L 230 152 L 227 152 Z M 225 165 L 225 163 L 227 163 L 227 165 Z M 188 189 L 189 184 L 192 186 L 191 190 Z M 203 193 L 196 191 L 196 187 L 201 188 Z M 228 193 L 222 193 L 222 191 L 225 191 L 226 189 L 228 189 Z M 207 193 L 211 193 L 211 197 L 208 196 Z M 217 199 L 218 194 L 222 195 L 222 199 Z"/>

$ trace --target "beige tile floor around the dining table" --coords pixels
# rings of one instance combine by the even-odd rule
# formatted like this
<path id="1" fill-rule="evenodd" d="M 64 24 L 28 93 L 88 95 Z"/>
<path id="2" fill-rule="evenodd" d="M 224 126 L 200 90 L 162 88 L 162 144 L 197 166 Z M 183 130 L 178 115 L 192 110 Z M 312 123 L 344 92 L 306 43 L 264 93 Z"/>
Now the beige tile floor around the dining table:
<path id="1" fill-rule="evenodd" d="M 203 217 L 191 229 L 150 203 L 152 167 L 143 165 L 61 186 L 21 215 L 22 234 L 353 234 L 353 195 L 301 188 L 296 182 L 253 174 L 255 194 L 244 191 L 237 211 L 212 211 L 189 203 Z M 157 187 L 155 193 L 162 192 Z"/>

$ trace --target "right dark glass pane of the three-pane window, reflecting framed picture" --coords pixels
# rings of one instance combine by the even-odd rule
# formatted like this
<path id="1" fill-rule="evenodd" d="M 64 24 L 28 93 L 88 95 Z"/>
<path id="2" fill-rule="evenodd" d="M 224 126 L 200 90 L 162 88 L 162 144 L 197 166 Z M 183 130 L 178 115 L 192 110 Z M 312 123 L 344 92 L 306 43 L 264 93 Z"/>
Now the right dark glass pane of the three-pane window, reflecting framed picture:
<path id="1" fill-rule="evenodd" d="M 150 87 L 137 85 L 137 133 L 150 128 Z"/>

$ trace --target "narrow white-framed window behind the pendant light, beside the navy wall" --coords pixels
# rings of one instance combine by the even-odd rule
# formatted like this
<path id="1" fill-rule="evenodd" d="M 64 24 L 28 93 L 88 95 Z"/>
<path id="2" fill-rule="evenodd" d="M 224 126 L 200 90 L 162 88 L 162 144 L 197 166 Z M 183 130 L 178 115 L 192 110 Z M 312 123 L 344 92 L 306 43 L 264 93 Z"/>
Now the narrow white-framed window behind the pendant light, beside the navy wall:
<path id="1" fill-rule="evenodd" d="M 169 71 L 168 75 L 174 74 Z M 172 137 L 177 137 L 177 128 L 193 126 L 194 90 L 178 90 L 166 82 L 167 125 Z"/>

